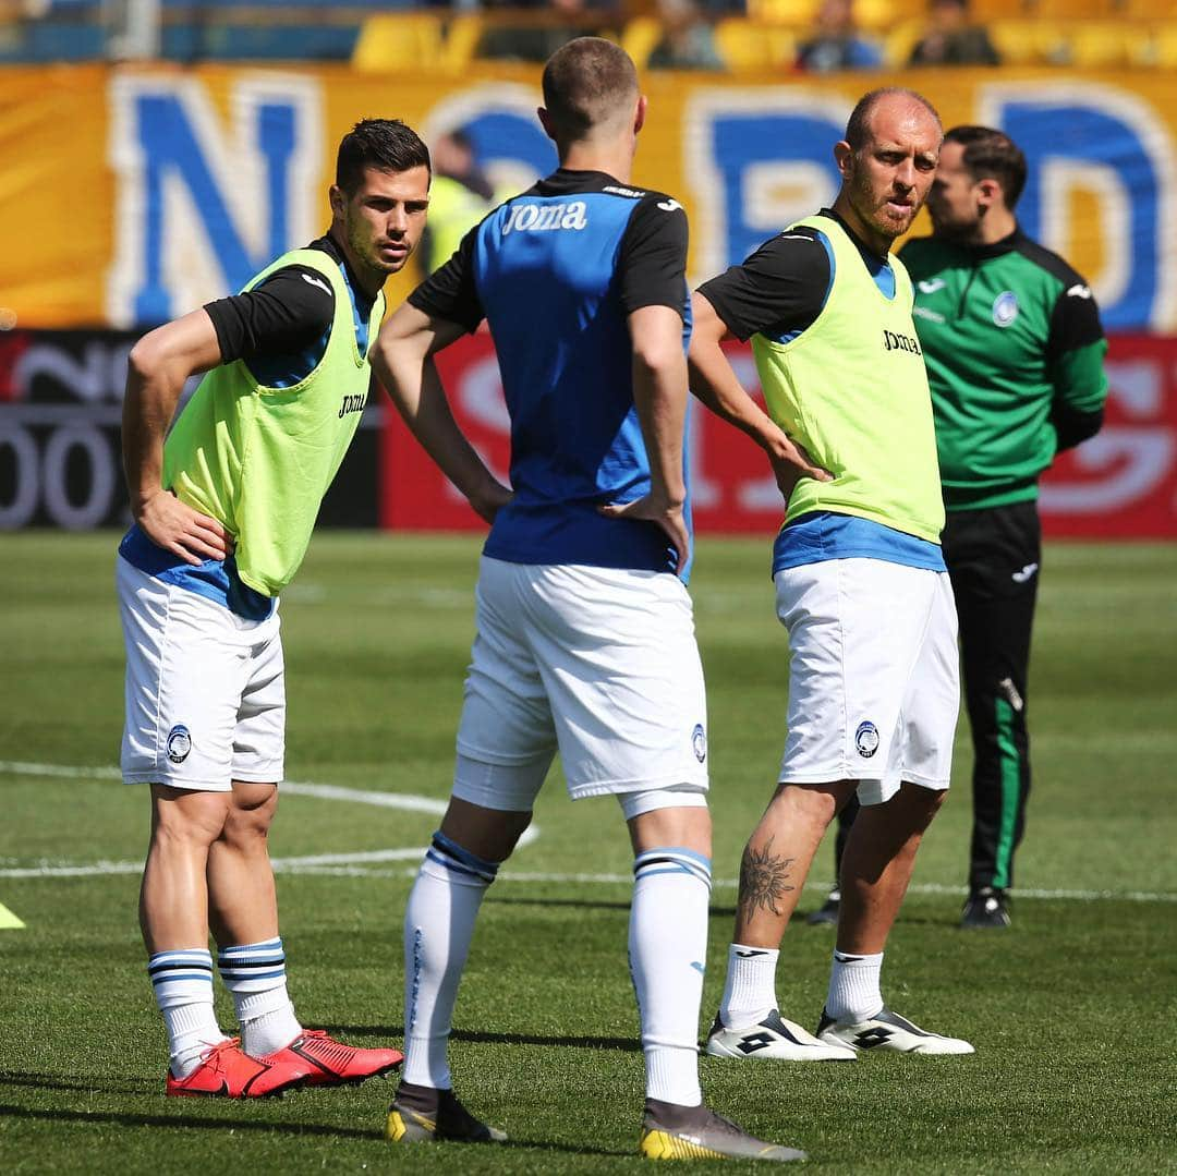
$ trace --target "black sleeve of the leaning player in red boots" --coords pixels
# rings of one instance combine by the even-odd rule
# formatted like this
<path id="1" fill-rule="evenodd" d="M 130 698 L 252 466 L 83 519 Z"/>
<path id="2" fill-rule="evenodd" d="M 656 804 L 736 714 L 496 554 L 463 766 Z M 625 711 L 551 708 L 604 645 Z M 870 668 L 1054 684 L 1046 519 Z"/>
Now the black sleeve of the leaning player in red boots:
<path id="1" fill-rule="evenodd" d="M 297 353 L 335 319 L 331 283 L 310 266 L 285 266 L 253 290 L 208 303 L 221 363 Z"/>

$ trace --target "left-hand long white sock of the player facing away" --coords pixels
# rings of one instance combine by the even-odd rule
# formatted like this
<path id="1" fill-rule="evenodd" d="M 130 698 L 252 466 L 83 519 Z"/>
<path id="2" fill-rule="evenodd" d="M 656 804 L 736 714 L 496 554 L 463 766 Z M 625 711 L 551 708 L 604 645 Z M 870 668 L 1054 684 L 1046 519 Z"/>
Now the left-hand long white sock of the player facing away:
<path id="1" fill-rule="evenodd" d="M 446 1047 L 474 921 L 498 863 L 433 835 L 405 909 L 405 1069 L 401 1081 L 448 1090 Z"/>

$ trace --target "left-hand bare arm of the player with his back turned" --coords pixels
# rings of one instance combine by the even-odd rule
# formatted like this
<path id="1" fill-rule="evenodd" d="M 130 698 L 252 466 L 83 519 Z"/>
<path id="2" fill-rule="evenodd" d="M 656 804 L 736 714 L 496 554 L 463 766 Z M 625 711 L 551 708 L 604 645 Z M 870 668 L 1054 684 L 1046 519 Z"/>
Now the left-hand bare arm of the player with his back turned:
<path id="1" fill-rule="evenodd" d="M 453 419 L 434 352 L 466 333 L 465 327 L 403 304 L 380 328 L 372 370 L 425 452 L 487 523 L 511 491 L 486 469 Z"/>

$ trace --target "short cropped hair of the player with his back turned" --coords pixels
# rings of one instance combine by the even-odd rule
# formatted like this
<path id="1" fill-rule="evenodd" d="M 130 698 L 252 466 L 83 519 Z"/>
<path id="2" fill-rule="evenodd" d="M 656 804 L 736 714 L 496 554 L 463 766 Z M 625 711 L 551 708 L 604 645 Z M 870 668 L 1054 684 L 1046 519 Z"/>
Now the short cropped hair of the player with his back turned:
<path id="1" fill-rule="evenodd" d="M 612 41 L 578 36 L 547 59 L 543 87 L 557 132 L 579 139 L 638 93 L 638 71 Z"/>

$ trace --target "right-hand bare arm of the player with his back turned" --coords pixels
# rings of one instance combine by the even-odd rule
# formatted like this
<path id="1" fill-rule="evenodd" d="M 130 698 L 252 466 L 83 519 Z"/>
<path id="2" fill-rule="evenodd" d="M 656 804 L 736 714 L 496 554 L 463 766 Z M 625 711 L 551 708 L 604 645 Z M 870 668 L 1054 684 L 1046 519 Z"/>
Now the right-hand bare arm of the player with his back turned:
<path id="1" fill-rule="evenodd" d="M 650 493 L 624 505 L 601 506 L 611 518 L 657 523 L 686 563 L 690 536 L 683 518 L 683 430 L 686 421 L 686 357 L 683 319 L 670 306 L 641 306 L 627 319 L 633 341 L 633 404 L 650 458 Z"/>

